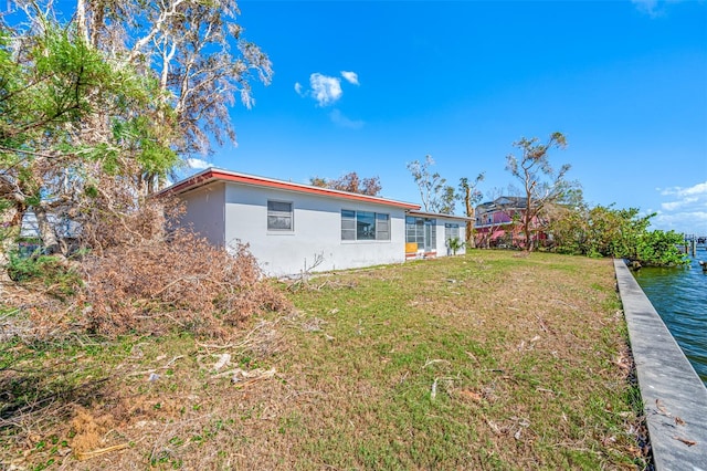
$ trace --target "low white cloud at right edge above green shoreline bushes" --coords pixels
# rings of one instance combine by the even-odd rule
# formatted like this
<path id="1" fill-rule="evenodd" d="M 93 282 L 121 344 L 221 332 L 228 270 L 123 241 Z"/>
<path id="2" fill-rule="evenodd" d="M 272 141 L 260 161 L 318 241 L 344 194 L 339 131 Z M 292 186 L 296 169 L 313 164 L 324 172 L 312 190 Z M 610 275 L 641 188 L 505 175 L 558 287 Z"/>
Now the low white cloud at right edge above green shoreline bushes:
<path id="1" fill-rule="evenodd" d="M 668 200 L 661 203 L 661 210 L 653 220 L 656 226 L 677 232 L 707 234 L 707 181 L 657 190 Z"/>

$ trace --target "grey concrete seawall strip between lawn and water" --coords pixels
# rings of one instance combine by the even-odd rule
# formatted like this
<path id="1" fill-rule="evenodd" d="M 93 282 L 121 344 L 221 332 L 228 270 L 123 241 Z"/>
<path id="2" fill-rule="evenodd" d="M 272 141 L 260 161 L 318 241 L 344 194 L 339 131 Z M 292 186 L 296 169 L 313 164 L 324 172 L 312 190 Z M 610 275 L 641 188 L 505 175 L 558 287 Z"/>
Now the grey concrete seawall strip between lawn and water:
<path id="1" fill-rule="evenodd" d="M 707 471 L 707 388 L 622 260 L 614 260 L 657 471 Z"/>

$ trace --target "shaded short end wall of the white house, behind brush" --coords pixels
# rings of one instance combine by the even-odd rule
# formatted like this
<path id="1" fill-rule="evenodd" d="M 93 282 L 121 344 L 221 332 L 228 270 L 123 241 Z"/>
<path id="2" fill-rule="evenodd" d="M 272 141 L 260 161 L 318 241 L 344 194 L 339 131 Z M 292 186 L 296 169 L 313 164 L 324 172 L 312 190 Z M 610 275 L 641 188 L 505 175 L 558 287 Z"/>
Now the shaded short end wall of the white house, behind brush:
<path id="1" fill-rule="evenodd" d="M 224 201 L 225 186 L 209 185 L 179 196 L 187 203 L 181 217 L 182 226 L 191 226 L 196 232 L 217 247 L 224 247 Z"/>

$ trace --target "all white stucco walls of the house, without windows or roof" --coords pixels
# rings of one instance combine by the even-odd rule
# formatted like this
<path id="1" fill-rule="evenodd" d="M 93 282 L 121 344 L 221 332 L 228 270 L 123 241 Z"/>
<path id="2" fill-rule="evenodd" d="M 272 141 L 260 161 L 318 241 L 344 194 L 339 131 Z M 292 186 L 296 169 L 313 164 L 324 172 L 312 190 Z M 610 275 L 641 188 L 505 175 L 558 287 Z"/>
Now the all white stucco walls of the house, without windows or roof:
<path id="1" fill-rule="evenodd" d="M 395 206 L 318 196 L 286 189 L 238 182 L 211 182 L 180 195 L 187 202 L 182 223 L 193 227 L 218 247 L 247 243 L 268 276 L 314 271 L 344 270 L 405 260 L 405 210 Z M 267 229 L 267 201 L 293 205 L 293 230 Z M 390 240 L 342 241 L 341 210 L 370 211 L 390 216 Z M 444 224 L 460 224 L 464 240 L 465 221 L 434 216 L 436 255 L 445 257 Z"/>

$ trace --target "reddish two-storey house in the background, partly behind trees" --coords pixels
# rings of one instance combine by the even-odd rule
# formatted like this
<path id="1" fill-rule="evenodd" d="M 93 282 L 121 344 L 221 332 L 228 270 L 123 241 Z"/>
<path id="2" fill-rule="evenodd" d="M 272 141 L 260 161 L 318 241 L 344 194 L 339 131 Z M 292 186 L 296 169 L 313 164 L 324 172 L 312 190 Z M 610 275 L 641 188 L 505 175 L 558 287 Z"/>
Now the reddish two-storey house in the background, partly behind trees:
<path id="1" fill-rule="evenodd" d="M 493 201 L 486 201 L 476 207 L 476 247 L 523 247 L 521 218 L 526 211 L 524 197 L 502 196 Z M 537 228 L 538 220 L 531 221 L 531 228 Z M 535 236 L 536 242 L 547 239 L 544 232 Z"/>

